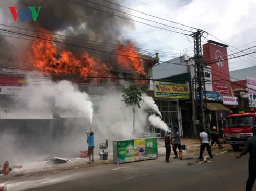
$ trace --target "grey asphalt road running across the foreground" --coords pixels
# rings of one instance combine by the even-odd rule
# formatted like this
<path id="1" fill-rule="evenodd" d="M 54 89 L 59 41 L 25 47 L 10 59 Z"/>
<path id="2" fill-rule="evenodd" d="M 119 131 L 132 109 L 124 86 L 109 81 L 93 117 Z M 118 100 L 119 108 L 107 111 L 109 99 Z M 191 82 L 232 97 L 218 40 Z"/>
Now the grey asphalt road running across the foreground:
<path id="1" fill-rule="evenodd" d="M 195 163 L 198 152 L 184 159 L 165 157 L 124 164 L 102 164 L 56 172 L 47 176 L 19 177 L 7 190 L 245 190 L 249 155 L 239 160 L 233 150 L 214 150 L 212 162 Z M 206 156 L 207 151 L 204 152 Z M 173 155 L 171 155 L 173 157 Z M 190 159 L 188 159 L 190 158 Z M 193 163 L 188 165 L 188 163 Z M 254 186 L 256 190 L 256 185 Z"/>

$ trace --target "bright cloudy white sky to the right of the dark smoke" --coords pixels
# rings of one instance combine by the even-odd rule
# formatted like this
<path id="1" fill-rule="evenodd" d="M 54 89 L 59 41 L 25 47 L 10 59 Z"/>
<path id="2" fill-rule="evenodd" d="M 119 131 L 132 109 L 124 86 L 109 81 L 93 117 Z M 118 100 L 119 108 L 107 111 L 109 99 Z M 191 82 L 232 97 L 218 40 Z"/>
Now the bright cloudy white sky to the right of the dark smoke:
<path id="1" fill-rule="evenodd" d="M 177 22 L 185 26 L 194 27 L 205 31 L 201 37 L 202 45 L 208 40 L 214 40 L 226 45 L 228 47 L 228 54 L 232 54 L 229 58 L 238 56 L 237 53 L 241 50 L 254 47 L 256 45 L 256 7 L 255 1 L 125 1 L 122 3 L 125 7 L 144 12 L 145 14 Z M 169 26 L 181 28 L 190 31 L 191 28 L 184 27 L 179 24 L 171 23 L 165 20 L 150 17 L 148 15 L 140 14 L 132 11 L 132 15 L 147 18 L 155 22 L 164 23 Z M 134 20 L 137 19 L 134 17 Z M 141 20 L 145 23 L 150 23 Z M 173 30 L 185 34 L 191 34 L 187 31 L 162 26 L 157 23 L 152 23 L 164 29 Z M 196 29 L 192 29 L 196 32 Z M 157 29 L 146 26 L 145 24 L 135 23 L 134 29 L 126 32 L 129 36 L 134 37 L 140 47 L 145 49 L 154 49 L 158 51 L 170 53 L 186 53 L 191 54 L 191 47 L 193 47 L 193 39 L 191 36 Z M 208 34 L 207 34 L 208 33 Z M 250 50 L 250 51 L 249 51 Z M 240 55 L 255 52 L 255 48 L 240 52 Z M 166 61 L 165 57 L 161 57 L 160 61 Z M 229 60 L 229 70 L 238 70 L 241 68 L 253 67 L 256 65 L 256 53 L 248 56 L 242 56 L 237 59 Z"/>

